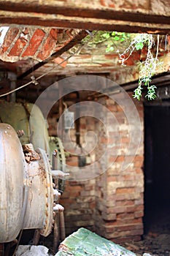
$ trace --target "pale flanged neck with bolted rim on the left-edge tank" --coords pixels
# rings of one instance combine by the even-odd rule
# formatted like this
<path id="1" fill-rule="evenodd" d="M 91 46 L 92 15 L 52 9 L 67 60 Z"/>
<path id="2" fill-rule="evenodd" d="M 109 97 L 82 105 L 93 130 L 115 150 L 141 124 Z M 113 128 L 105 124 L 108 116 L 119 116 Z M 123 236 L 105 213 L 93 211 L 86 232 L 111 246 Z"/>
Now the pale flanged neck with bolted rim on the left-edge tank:
<path id="1" fill-rule="evenodd" d="M 53 180 L 46 152 L 42 148 L 36 152 L 40 159 L 28 162 L 23 229 L 38 228 L 42 236 L 48 236 L 53 225 Z"/>

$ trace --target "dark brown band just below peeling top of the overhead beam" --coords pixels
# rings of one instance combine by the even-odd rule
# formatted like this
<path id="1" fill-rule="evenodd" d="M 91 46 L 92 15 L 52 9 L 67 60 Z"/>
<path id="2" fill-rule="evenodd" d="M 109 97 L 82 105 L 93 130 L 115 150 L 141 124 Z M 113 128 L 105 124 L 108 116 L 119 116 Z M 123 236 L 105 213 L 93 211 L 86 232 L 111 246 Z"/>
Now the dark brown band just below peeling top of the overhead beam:
<path id="1" fill-rule="evenodd" d="M 97 18 L 106 20 L 123 20 L 131 22 L 143 23 L 160 23 L 169 24 L 170 17 L 163 15 L 154 15 L 139 12 L 125 12 L 123 10 L 98 10 L 90 8 L 81 7 L 55 7 L 50 4 L 36 4 L 35 1 L 23 1 L 21 3 L 14 1 L 1 1 L 0 10 L 10 11 L 10 12 L 37 12 L 44 14 L 55 14 L 63 15 L 69 17 L 78 18 Z"/>

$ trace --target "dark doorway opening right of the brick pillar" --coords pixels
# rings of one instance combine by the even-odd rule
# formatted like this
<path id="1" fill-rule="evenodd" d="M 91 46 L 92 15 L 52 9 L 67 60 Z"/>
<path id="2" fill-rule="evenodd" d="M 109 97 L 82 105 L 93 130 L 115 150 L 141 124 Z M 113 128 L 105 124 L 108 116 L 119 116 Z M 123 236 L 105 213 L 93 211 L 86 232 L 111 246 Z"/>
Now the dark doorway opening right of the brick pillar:
<path id="1" fill-rule="evenodd" d="M 166 233 L 170 233 L 170 102 L 168 101 L 144 106 L 144 178 L 145 233 L 149 231 L 160 233 L 161 228 L 166 228 Z"/>

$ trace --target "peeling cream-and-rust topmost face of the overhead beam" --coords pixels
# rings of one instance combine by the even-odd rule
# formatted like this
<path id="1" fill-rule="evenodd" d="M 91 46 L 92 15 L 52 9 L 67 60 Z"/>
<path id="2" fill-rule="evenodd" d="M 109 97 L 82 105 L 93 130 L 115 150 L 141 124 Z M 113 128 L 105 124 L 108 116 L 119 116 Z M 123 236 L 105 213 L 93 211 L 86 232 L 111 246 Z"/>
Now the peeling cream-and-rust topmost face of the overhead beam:
<path id="1" fill-rule="evenodd" d="M 97 18 L 97 15 L 104 18 L 101 17 L 101 10 L 107 10 L 105 18 L 109 11 L 120 11 L 124 14 L 125 12 L 136 14 L 141 12 L 150 15 L 170 15 L 169 0 L 1 0 L 0 2 L 1 10 L 55 13 L 89 18 Z"/>

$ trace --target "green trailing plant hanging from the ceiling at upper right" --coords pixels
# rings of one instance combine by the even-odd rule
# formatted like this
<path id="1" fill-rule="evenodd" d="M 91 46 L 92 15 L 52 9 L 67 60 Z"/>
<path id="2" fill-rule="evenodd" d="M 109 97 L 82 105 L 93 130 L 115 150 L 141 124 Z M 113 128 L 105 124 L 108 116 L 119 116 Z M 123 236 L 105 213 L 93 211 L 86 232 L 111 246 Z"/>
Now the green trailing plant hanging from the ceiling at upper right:
<path id="1" fill-rule="evenodd" d="M 91 38 L 91 39 L 90 39 Z M 147 86 L 147 97 L 148 100 L 155 99 L 156 86 L 152 85 L 152 76 L 155 75 L 158 66 L 161 62 L 158 61 L 158 50 L 159 50 L 159 35 L 157 36 L 157 50 L 155 57 L 153 56 L 152 49 L 155 45 L 155 40 L 152 34 L 129 34 L 117 31 L 93 31 L 85 39 L 82 39 L 82 43 L 88 41 L 88 46 L 96 48 L 98 43 L 105 42 L 107 45 L 106 52 L 115 50 L 115 46 L 120 48 L 120 43 L 130 42 L 124 52 L 120 54 L 120 61 L 125 65 L 125 61 L 131 56 L 134 50 L 142 50 L 147 48 L 147 56 L 144 61 L 139 64 L 139 82 L 138 87 L 134 90 L 134 98 L 141 99 L 142 89 Z M 120 50 L 117 50 L 120 52 Z"/>

